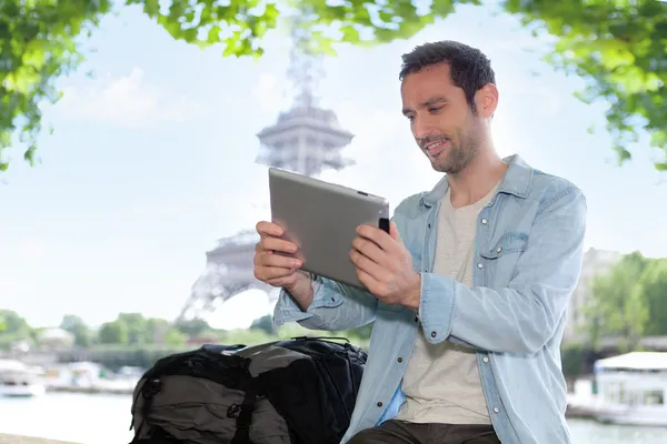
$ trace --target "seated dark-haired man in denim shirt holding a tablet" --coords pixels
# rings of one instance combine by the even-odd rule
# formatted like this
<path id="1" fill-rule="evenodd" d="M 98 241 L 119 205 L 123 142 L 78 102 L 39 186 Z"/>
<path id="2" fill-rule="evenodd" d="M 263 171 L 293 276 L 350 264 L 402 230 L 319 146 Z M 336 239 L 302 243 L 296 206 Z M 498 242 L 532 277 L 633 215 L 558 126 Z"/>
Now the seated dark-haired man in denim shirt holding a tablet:
<path id="1" fill-rule="evenodd" d="M 344 443 L 567 444 L 559 346 L 579 279 L 586 202 L 568 181 L 500 159 L 489 60 L 452 41 L 404 56 L 402 113 L 431 167 L 389 234 L 360 226 L 350 260 L 368 292 L 310 276 L 260 222 L 255 274 L 280 286 L 276 323 L 375 322 Z"/>

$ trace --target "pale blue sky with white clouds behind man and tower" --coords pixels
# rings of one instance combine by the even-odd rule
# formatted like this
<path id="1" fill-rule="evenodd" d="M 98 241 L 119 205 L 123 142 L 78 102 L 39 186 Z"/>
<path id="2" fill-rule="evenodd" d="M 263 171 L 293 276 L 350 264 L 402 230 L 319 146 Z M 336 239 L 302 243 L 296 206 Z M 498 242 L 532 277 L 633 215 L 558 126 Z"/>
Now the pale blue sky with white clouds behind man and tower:
<path id="1" fill-rule="evenodd" d="M 87 62 L 44 108 L 56 132 L 29 167 L 12 151 L 0 175 L 0 307 L 34 326 L 63 314 L 91 325 L 119 312 L 175 319 L 220 238 L 269 219 L 267 167 L 256 134 L 289 109 L 289 41 L 272 32 L 259 60 L 223 58 L 173 39 L 137 8 L 109 16 L 83 48 Z M 667 256 L 666 175 L 647 138 L 618 167 L 604 131 L 605 103 L 541 61 L 545 42 L 509 16 L 461 7 L 409 40 L 341 46 L 323 62 L 319 104 L 356 134 L 356 164 L 320 178 L 388 198 L 429 190 L 430 169 L 400 113 L 400 56 L 442 39 L 482 50 L 500 91 L 500 154 L 577 184 L 588 201 L 587 248 Z M 86 75 L 92 71 L 93 75 Z M 599 128 L 595 134 L 588 128 Z M 247 327 L 270 312 L 266 294 L 241 294 L 209 321 Z"/>

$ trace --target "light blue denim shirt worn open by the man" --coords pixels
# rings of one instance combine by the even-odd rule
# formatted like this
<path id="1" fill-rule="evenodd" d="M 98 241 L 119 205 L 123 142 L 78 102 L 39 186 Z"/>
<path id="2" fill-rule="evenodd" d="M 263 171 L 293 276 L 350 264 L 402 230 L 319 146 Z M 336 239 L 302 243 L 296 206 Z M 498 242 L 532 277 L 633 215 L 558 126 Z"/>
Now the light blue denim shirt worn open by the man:
<path id="1" fill-rule="evenodd" d="M 276 324 L 297 321 L 309 329 L 342 331 L 375 322 L 342 443 L 396 415 L 406 364 L 421 331 L 430 343 L 451 341 L 477 350 L 489 414 L 504 444 L 570 443 L 560 341 L 581 269 L 586 199 L 570 182 L 534 170 L 518 155 L 506 162 L 505 178 L 477 219 L 471 289 L 431 273 L 438 209 L 448 188 L 444 178 L 394 213 L 421 273 L 420 317 L 320 276 L 306 312 L 281 292 Z"/>

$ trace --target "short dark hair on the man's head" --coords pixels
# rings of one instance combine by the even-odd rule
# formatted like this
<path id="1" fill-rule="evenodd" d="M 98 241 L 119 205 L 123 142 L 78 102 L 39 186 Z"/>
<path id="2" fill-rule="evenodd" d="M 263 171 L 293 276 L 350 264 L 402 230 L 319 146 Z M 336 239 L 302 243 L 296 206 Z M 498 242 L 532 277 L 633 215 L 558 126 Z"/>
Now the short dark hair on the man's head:
<path id="1" fill-rule="evenodd" d="M 437 63 L 450 63 L 451 82 L 464 90 L 474 113 L 475 93 L 487 83 L 496 84 L 491 61 L 478 49 L 451 40 L 425 43 L 402 56 L 399 79 Z"/>

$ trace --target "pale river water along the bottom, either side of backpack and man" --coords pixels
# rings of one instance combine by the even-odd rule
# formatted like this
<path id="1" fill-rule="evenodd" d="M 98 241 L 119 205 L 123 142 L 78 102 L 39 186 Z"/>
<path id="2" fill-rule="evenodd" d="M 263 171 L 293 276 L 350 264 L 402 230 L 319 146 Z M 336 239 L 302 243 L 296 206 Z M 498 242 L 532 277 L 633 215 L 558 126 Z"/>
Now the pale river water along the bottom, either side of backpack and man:
<path id="1" fill-rule="evenodd" d="M 0 433 L 81 444 L 128 444 L 132 438 L 127 395 L 47 394 L 0 397 Z M 601 425 L 570 420 L 573 444 L 665 444 L 667 427 Z"/>

